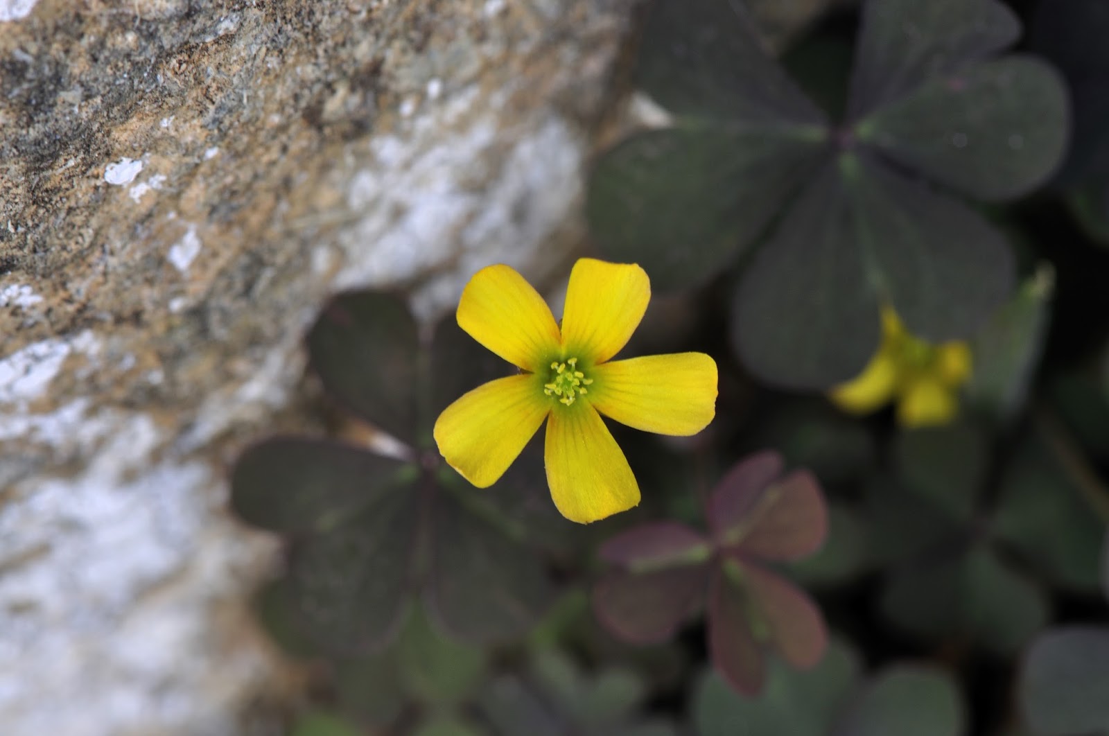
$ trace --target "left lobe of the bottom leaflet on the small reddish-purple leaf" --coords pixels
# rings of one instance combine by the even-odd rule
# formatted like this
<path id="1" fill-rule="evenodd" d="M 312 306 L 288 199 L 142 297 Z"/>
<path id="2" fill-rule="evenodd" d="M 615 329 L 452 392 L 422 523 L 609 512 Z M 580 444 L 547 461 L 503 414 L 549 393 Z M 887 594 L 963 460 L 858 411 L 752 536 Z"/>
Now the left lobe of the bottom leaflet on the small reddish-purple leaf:
<path id="1" fill-rule="evenodd" d="M 766 678 L 766 658 L 751 630 L 751 604 L 746 591 L 718 566 L 709 593 L 709 653 L 732 687 L 753 696 Z"/>

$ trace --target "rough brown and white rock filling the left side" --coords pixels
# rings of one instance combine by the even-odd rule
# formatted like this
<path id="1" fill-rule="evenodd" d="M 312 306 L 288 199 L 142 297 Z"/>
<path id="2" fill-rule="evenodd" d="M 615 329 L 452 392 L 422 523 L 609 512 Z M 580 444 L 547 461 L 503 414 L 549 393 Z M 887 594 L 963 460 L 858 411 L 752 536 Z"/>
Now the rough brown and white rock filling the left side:
<path id="1" fill-rule="evenodd" d="M 581 241 L 633 0 L 0 0 L 0 724 L 244 733 L 235 452 L 336 289 Z"/>

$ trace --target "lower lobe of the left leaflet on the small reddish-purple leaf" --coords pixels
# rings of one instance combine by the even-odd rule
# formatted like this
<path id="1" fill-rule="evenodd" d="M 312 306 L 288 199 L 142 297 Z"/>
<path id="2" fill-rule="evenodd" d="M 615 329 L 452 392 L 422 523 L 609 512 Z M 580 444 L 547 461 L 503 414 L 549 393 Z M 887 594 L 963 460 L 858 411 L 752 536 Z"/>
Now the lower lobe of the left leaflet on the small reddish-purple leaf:
<path id="1" fill-rule="evenodd" d="M 639 574 L 613 572 L 593 586 L 593 612 L 625 642 L 664 642 L 704 601 L 710 571 L 710 565 L 698 564 Z"/>

